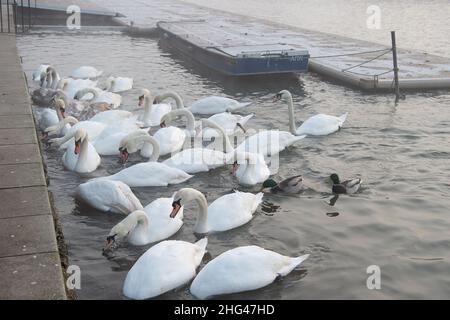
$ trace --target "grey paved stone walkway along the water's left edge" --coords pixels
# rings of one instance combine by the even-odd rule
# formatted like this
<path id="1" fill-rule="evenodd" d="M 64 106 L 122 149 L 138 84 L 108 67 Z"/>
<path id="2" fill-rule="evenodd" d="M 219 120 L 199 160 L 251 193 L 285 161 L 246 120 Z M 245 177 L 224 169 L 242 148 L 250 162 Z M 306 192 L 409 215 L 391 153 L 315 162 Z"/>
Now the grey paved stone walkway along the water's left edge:
<path id="1" fill-rule="evenodd" d="M 0 34 L 0 299 L 65 299 L 16 39 Z"/>

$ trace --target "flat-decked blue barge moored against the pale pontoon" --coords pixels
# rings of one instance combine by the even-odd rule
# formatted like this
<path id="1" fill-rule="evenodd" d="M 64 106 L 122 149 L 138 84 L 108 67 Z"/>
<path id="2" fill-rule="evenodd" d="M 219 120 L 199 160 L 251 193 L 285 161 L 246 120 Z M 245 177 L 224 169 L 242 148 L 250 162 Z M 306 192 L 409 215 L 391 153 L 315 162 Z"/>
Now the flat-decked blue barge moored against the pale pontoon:
<path id="1" fill-rule="evenodd" d="M 207 67 L 232 76 L 299 73 L 308 70 L 309 52 L 285 43 L 255 41 L 205 21 L 158 22 L 162 41 Z"/>

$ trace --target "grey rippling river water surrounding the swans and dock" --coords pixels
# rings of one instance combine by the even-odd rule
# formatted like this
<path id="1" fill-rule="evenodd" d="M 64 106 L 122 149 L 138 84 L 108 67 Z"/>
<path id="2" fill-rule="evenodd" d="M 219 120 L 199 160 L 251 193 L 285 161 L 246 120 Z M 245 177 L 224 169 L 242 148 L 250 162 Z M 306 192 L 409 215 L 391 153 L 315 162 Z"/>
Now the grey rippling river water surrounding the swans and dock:
<path id="1" fill-rule="evenodd" d="M 221 8 L 244 13 L 249 12 L 246 8 L 255 2 L 240 1 L 238 6 L 237 1 L 228 1 Z M 320 9 L 323 2 L 331 4 L 333 9 Z M 344 2 L 347 3 L 322 1 L 321 6 L 316 6 L 312 1 L 286 0 L 284 6 L 273 12 L 274 16 L 286 14 L 289 18 L 285 23 L 308 27 L 303 25 L 304 22 L 300 23 L 305 18 L 322 31 L 327 31 L 325 29 L 330 25 L 329 20 L 321 20 L 326 14 L 335 19 L 335 24 L 343 26 L 342 30 L 336 28 L 336 32 L 356 37 L 358 23 L 355 22 L 353 27 L 350 22 L 345 26 L 340 23 L 343 13 L 340 13 L 339 5 Z M 219 1 L 209 0 L 208 3 L 219 6 Z M 272 5 L 269 1 L 261 3 L 251 6 L 252 13 L 259 17 L 269 16 Z M 362 5 L 352 7 L 351 3 L 356 1 L 348 3 L 345 8 L 350 12 L 346 14 L 351 15 L 354 10 L 354 16 L 358 17 Z M 449 15 L 443 14 L 448 9 L 448 2 L 379 3 L 389 6 L 389 16 L 404 17 L 401 21 L 415 19 L 409 23 L 416 28 L 405 27 L 402 31 L 405 43 L 448 55 L 450 38 L 448 32 L 443 34 L 448 28 Z M 405 3 L 410 3 L 406 12 Z M 421 12 L 405 18 L 416 5 Z M 297 20 L 295 14 L 298 14 Z M 363 16 L 366 16 L 365 9 Z M 421 31 L 433 34 L 433 40 L 417 34 L 425 27 L 434 28 L 433 31 Z M 369 40 L 380 40 L 375 33 Z M 364 31 L 361 35 L 367 34 L 370 32 Z M 340 132 L 327 137 L 306 138 L 280 154 L 280 168 L 275 179 L 303 174 L 308 190 L 299 196 L 265 195 L 264 199 L 276 209 L 259 208 L 254 219 L 245 226 L 210 235 L 209 254 L 202 266 L 228 249 L 249 244 L 290 256 L 310 253 L 310 258 L 298 270 L 265 288 L 223 298 L 450 297 L 448 92 L 409 93 L 406 100 L 395 105 L 392 94 L 364 94 L 329 83 L 314 74 L 233 80 L 181 60 L 161 47 L 157 39 L 132 38 L 112 31 L 74 34 L 40 31 L 20 36 L 17 42 L 30 86 L 35 86 L 30 80 L 32 71 L 44 62 L 55 65 L 63 75 L 80 65 L 93 65 L 104 70 L 105 76 L 133 77 L 135 89 L 123 94 L 124 109 L 137 107 L 139 88 L 142 87 L 154 92 L 175 90 L 187 105 L 203 96 L 217 94 L 254 101 L 242 111 L 243 114 L 255 114 L 249 127 L 286 130 L 287 107 L 273 103 L 271 98 L 279 90 L 289 89 L 294 96 L 298 119 L 319 112 L 349 113 Z M 75 198 L 80 183 L 117 172 L 121 167 L 116 157 L 102 157 L 97 171 L 78 175 L 63 169 L 61 156 L 62 152 L 55 148 L 44 151 L 50 176 L 49 189 L 62 222 L 70 263 L 78 265 L 82 272 L 78 297 L 122 299 L 121 289 L 127 271 L 149 246 L 124 246 L 109 258 L 103 256 L 101 248 L 105 237 L 123 217 L 96 211 Z M 131 163 L 139 160 L 139 157 L 133 157 Z M 364 180 L 361 191 L 341 196 L 331 206 L 327 177 L 332 172 L 338 172 L 342 177 L 361 177 Z M 197 174 L 181 185 L 134 188 L 133 191 L 146 205 L 185 186 L 201 190 L 209 202 L 238 187 L 230 175 L 230 168 L 221 168 Z M 193 206 L 186 209 L 185 224 L 173 239 L 196 240 L 194 211 Z M 366 287 L 369 276 L 366 269 L 371 265 L 380 267 L 380 290 Z M 185 286 L 159 298 L 193 297 Z"/>

